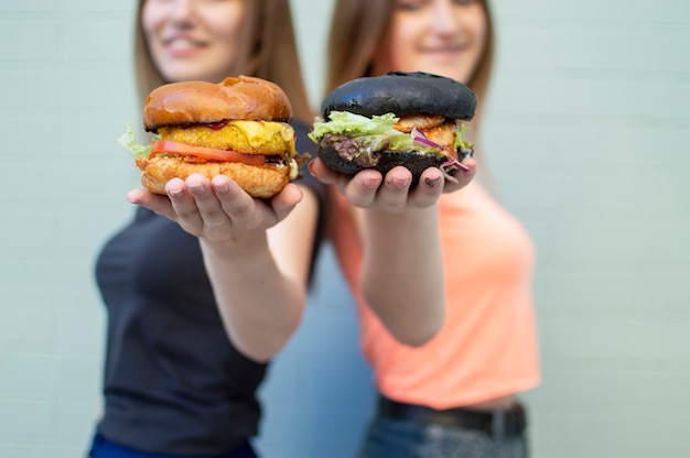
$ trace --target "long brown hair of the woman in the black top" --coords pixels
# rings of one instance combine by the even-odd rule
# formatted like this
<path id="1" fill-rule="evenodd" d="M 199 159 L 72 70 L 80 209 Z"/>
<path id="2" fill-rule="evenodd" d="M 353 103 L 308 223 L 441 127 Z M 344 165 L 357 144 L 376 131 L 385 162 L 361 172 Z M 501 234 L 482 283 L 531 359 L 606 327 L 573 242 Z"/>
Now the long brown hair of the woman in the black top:
<path id="1" fill-rule="evenodd" d="M 134 31 L 134 69 L 139 100 L 169 83 L 153 64 L 149 52 L 141 12 L 147 0 L 139 0 Z M 268 79 L 280 86 L 292 103 L 294 118 L 313 121 L 292 25 L 289 0 L 244 0 L 241 47 L 238 50 L 233 74 Z M 217 81 L 212 81 L 217 83 Z"/>

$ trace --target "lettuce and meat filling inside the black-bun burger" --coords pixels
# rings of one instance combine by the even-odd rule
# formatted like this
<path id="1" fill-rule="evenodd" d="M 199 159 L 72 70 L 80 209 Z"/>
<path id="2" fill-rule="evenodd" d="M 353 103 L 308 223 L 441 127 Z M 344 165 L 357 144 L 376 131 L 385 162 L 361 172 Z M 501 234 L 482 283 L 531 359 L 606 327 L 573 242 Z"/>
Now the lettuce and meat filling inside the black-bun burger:
<path id="1" fill-rule="evenodd" d="M 434 154 L 446 157 L 448 174 L 462 168 L 460 161 L 472 155 L 472 143 L 463 139 L 465 126 L 439 115 L 398 118 L 393 113 L 365 116 L 331 111 L 328 121 L 316 120 L 310 139 L 333 148 L 341 157 L 363 167 L 378 164 L 384 152 Z"/>

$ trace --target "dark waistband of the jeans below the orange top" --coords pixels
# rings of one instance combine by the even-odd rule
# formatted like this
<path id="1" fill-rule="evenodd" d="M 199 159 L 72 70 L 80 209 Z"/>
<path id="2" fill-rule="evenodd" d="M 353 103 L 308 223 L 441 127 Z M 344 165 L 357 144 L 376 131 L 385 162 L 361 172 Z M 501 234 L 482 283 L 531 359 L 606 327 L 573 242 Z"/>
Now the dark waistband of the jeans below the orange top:
<path id="1" fill-rule="evenodd" d="M 438 411 L 424 405 L 406 404 L 380 396 L 378 416 L 481 430 L 492 437 L 517 436 L 527 427 L 527 414 L 519 403 L 509 408 L 487 412 L 462 407 Z"/>

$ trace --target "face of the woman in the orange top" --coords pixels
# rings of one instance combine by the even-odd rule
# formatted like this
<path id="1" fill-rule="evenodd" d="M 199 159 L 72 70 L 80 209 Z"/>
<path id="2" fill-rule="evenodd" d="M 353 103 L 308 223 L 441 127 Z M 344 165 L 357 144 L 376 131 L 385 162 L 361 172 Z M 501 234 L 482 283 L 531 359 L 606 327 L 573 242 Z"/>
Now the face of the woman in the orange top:
<path id="1" fill-rule="evenodd" d="M 467 83 L 486 45 L 478 0 L 397 0 L 374 73 L 428 72 Z"/>

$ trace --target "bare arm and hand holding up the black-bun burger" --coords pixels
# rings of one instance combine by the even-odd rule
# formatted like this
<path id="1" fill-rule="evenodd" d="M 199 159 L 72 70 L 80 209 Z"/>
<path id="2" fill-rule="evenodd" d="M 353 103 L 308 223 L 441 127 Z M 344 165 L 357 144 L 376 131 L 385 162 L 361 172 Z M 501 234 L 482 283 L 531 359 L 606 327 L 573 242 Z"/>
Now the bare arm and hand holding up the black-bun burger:
<path id="1" fill-rule="evenodd" d="M 362 288 L 367 303 L 401 342 L 419 346 L 440 329 L 444 318 L 443 259 L 439 237 L 438 199 L 443 192 L 465 186 L 474 176 L 475 162 L 448 184 L 438 168 L 428 168 L 410 189 L 411 175 L 396 167 L 385 177 L 363 171 L 354 177 L 334 175 L 312 165 L 315 176 L 333 183 L 357 207 L 364 243 Z M 445 188 L 444 188 L 445 186 Z"/>

